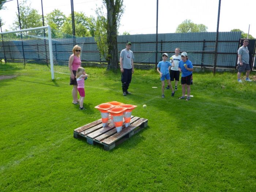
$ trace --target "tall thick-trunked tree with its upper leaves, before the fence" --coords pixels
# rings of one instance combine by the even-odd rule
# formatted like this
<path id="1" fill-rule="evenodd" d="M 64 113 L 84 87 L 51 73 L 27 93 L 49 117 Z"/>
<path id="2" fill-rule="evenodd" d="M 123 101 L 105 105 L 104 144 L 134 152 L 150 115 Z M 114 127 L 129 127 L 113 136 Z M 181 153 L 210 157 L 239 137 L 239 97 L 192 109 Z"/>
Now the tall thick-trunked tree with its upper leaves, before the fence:
<path id="1" fill-rule="evenodd" d="M 117 56 L 117 28 L 120 25 L 121 16 L 124 13 L 123 0 L 103 0 L 103 4 L 107 8 L 107 44 L 108 55 L 106 60 L 108 61 L 107 69 L 116 71 L 118 66 Z"/>

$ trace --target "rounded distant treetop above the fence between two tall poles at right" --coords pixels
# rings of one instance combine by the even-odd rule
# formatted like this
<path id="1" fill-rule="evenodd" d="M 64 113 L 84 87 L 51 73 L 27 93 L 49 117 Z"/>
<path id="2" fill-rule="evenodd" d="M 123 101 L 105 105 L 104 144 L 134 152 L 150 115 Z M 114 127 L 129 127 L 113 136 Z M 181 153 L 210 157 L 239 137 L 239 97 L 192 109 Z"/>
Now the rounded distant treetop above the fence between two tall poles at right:
<path id="1" fill-rule="evenodd" d="M 184 20 L 176 29 L 176 33 L 207 32 L 208 27 L 203 24 L 195 24 L 190 19 Z"/>

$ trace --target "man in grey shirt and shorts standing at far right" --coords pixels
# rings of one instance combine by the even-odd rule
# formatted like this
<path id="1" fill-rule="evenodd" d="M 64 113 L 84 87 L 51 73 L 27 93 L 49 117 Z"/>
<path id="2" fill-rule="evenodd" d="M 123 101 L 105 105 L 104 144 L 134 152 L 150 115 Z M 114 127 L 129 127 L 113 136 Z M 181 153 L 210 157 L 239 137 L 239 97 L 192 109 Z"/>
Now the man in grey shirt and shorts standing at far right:
<path id="1" fill-rule="evenodd" d="M 242 80 L 240 79 L 241 72 L 244 72 L 246 70 L 246 81 L 251 82 L 252 80 L 249 79 L 249 75 L 251 72 L 251 68 L 249 65 L 249 50 L 247 48 L 247 45 L 249 44 L 249 41 L 245 39 L 243 41 L 243 46 L 241 46 L 237 53 L 238 53 L 238 73 L 237 73 L 237 80 L 239 83 L 242 83 Z"/>

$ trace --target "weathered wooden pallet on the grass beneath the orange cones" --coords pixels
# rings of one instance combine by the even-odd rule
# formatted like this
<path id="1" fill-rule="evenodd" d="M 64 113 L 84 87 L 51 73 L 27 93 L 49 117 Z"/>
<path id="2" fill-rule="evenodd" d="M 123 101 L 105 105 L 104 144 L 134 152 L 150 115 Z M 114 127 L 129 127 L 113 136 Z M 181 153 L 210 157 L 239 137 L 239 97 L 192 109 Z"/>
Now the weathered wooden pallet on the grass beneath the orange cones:
<path id="1" fill-rule="evenodd" d="M 145 118 L 132 116 L 131 125 L 125 127 L 123 124 L 122 131 L 117 133 L 116 128 L 111 124 L 110 119 L 106 127 L 102 127 L 102 121 L 99 119 L 75 129 L 74 138 L 86 138 L 87 143 L 92 145 L 100 143 L 104 146 L 105 150 L 109 151 L 123 143 L 135 133 L 147 127 L 147 121 L 148 120 Z"/>

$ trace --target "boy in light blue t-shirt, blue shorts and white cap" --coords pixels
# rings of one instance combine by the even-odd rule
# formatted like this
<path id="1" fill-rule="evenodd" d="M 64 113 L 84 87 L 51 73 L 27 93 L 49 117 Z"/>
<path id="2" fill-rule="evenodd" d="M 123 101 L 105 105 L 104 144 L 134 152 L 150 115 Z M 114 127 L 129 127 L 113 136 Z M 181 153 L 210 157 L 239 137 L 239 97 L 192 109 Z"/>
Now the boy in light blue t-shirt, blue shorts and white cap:
<path id="1" fill-rule="evenodd" d="M 167 83 L 172 90 L 172 96 L 174 96 L 174 93 L 175 93 L 170 81 L 170 74 L 169 74 L 169 70 L 171 67 L 174 67 L 174 64 L 172 65 L 169 61 L 166 61 L 167 58 L 168 58 L 168 54 L 163 53 L 162 54 L 163 60 L 160 61 L 157 65 L 157 72 L 160 74 L 160 79 L 162 81 L 162 98 L 165 98 L 165 95 L 163 94 L 163 92 L 165 91 L 165 79 L 167 80 Z"/>

